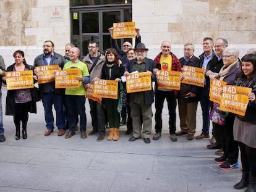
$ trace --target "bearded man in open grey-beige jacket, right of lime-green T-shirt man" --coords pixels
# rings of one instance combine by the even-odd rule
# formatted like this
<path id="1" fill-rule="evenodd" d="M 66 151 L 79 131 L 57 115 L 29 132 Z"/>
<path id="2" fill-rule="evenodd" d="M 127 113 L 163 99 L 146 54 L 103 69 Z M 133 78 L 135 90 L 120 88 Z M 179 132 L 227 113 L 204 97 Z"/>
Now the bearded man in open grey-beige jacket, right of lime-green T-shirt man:
<path id="1" fill-rule="evenodd" d="M 87 64 L 90 73 L 90 83 L 93 80 L 101 78 L 102 67 L 105 63 L 105 56 L 99 52 L 99 44 L 95 41 L 91 41 L 88 44 L 89 53 L 83 58 L 83 62 Z M 88 85 L 87 85 L 88 86 Z M 99 133 L 97 141 L 103 141 L 105 138 L 105 114 L 103 105 L 92 99 L 88 99 L 90 104 L 90 114 L 92 116 L 93 130 L 90 131 L 89 135 L 95 135 Z"/>

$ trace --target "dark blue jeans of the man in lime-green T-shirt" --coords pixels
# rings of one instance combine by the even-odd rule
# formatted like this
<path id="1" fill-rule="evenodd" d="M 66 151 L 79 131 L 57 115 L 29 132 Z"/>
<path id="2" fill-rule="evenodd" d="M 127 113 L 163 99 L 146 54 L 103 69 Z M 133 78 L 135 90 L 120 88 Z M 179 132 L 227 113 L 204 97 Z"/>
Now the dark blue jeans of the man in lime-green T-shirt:
<path id="1" fill-rule="evenodd" d="M 82 95 L 66 95 L 67 120 L 69 121 L 69 130 L 75 131 L 77 125 L 77 114 L 79 114 L 80 131 L 86 130 L 86 113 L 85 113 L 85 96 Z M 101 122 L 104 123 L 104 122 Z"/>

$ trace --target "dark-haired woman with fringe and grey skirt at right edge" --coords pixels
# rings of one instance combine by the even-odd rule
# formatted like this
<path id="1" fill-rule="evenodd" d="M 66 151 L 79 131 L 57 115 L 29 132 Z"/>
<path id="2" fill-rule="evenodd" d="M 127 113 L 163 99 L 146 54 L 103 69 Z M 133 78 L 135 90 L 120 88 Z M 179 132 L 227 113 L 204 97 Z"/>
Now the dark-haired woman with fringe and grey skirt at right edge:
<path id="1" fill-rule="evenodd" d="M 256 191 L 256 55 L 247 54 L 242 57 L 242 77 L 235 81 L 236 86 L 252 88 L 249 93 L 249 104 L 244 116 L 237 115 L 234 120 L 234 140 L 238 141 L 242 179 L 234 188 L 248 188 L 246 192 Z"/>

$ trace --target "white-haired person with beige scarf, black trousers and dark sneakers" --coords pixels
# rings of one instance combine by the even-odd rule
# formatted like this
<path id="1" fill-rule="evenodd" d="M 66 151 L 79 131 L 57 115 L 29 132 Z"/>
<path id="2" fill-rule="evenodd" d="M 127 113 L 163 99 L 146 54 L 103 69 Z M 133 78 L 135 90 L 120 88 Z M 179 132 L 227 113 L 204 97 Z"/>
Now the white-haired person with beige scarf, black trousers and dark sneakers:
<path id="1" fill-rule="evenodd" d="M 227 85 L 233 85 L 237 74 L 241 72 L 241 62 L 238 56 L 238 49 L 225 48 L 223 51 L 223 67 L 219 73 L 213 73 L 209 77 L 218 78 L 221 81 L 225 81 Z M 223 125 L 220 125 L 220 122 L 213 122 L 215 139 L 217 143 L 221 144 L 224 152 L 223 156 L 215 158 L 215 162 L 216 164 L 220 164 L 219 167 L 221 170 L 231 170 L 237 165 L 238 146 L 233 136 L 235 116 L 235 114 L 229 112 Z"/>

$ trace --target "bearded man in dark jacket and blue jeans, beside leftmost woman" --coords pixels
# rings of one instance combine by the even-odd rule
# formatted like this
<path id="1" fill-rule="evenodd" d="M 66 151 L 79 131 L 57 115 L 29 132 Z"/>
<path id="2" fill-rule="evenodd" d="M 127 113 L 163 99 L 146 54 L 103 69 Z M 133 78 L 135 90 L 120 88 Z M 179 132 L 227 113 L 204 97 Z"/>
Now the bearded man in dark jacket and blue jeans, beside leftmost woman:
<path id="1" fill-rule="evenodd" d="M 43 54 L 37 56 L 34 60 L 34 66 L 59 65 L 62 69 L 65 59 L 60 54 L 54 52 L 53 41 L 46 40 L 43 44 Z M 35 74 L 38 70 L 35 69 Z M 46 131 L 45 136 L 50 135 L 54 130 L 53 105 L 56 111 L 56 125 L 58 127 L 58 136 L 65 134 L 65 115 L 64 106 L 64 90 L 55 88 L 55 81 L 43 83 L 39 85 L 40 98 L 45 109 Z"/>

